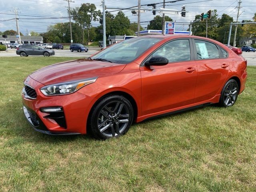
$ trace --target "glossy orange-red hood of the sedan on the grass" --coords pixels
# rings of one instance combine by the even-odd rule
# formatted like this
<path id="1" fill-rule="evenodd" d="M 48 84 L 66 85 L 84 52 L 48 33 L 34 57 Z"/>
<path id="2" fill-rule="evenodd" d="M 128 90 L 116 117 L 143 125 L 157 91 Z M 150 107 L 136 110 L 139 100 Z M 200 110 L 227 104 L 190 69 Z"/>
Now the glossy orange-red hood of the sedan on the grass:
<path id="1" fill-rule="evenodd" d="M 44 85 L 50 85 L 109 76 L 122 71 L 125 66 L 125 64 L 79 59 L 46 66 L 30 74 L 30 77 Z"/>

